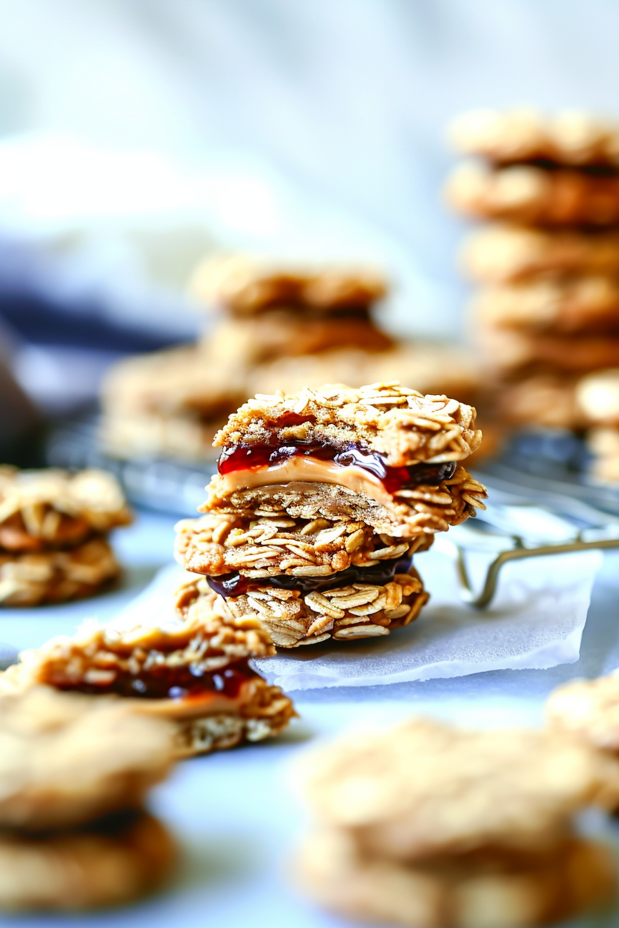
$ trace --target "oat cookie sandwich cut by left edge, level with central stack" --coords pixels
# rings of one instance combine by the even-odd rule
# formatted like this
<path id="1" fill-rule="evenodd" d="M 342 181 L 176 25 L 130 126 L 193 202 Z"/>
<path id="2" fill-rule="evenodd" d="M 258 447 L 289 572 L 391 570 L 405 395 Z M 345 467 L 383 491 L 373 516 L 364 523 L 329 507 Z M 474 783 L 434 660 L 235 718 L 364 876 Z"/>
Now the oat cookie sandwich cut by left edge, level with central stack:
<path id="1" fill-rule="evenodd" d="M 103 470 L 0 468 L 0 605 L 91 596 L 121 572 L 107 535 L 132 521 Z"/>

